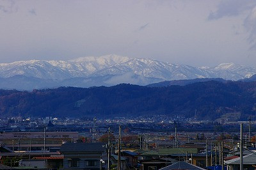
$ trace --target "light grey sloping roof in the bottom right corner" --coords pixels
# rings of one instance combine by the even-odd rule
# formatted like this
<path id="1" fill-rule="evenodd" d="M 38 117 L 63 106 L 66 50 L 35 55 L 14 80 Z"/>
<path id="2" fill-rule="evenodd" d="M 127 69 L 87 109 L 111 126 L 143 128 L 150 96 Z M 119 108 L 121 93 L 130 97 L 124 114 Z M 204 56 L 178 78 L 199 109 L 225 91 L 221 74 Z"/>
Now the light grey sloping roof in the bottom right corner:
<path id="1" fill-rule="evenodd" d="M 233 158 L 231 160 L 225 160 L 224 163 L 227 165 L 239 165 L 240 157 Z M 243 164 L 244 165 L 256 165 L 256 153 L 251 153 L 249 155 L 243 156 Z"/>

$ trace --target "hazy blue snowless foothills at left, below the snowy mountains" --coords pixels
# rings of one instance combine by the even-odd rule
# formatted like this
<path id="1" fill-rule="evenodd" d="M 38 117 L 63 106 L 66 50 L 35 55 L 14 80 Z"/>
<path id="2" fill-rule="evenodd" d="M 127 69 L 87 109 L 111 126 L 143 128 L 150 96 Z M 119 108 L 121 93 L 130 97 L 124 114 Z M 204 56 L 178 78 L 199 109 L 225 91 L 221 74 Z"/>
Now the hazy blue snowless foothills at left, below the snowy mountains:
<path id="1" fill-rule="evenodd" d="M 146 85 L 150 82 L 159 82 L 161 79 L 143 77 L 132 73 L 122 75 L 102 75 L 95 77 L 74 77 L 63 80 L 41 79 L 36 77 L 26 77 L 24 75 L 14 75 L 13 77 L 0 77 L 0 88 L 19 89 L 32 91 L 33 89 L 77 87 L 90 88 L 92 86 L 113 86 L 113 84 L 131 83 Z"/>

